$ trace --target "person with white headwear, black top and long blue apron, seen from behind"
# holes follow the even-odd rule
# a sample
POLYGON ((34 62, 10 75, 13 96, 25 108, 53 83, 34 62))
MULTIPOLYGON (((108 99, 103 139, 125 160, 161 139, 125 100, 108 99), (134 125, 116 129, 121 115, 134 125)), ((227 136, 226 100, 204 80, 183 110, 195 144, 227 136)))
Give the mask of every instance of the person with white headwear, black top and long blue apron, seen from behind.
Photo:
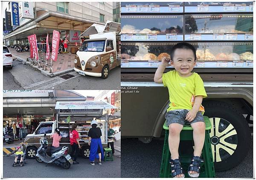
POLYGON ((90 146, 90 164, 95 165, 94 160, 95 158, 99 158, 98 164, 102 164, 101 160, 104 159, 103 155, 103 147, 101 142, 102 132, 99 127, 97 127, 97 121, 91 121, 92 128, 89 129, 88 137, 89 137, 89 146, 90 146))

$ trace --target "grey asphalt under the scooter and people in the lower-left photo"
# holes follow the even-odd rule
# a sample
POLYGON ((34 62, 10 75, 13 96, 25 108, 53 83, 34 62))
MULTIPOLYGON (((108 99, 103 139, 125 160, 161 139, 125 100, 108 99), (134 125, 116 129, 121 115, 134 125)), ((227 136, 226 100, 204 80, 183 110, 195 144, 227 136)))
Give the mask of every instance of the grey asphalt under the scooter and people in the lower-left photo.
POLYGON ((17 177, 120 177, 120 158, 114 156, 113 161, 102 162, 102 165, 90 165, 89 159, 79 157, 79 164, 71 165, 70 169, 61 169, 58 166, 38 163, 36 160, 27 159, 23 167, 12 167, 13 156, 3 157, 3 178, 17 177))

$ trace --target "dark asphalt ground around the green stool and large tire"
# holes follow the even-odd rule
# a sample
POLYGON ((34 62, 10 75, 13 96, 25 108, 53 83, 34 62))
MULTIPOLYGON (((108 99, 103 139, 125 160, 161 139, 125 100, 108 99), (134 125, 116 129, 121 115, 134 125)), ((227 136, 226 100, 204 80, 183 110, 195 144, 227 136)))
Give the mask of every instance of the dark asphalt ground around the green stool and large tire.
MULTIPOLYGON (((122 177, 158 177, 162 156, 163 140, 153 139, 142 143, 138 139, 122 139, 122 177)), ((253 177, 253 143, 244 160, 233 169, 215 172, 216 177, 253 177)))

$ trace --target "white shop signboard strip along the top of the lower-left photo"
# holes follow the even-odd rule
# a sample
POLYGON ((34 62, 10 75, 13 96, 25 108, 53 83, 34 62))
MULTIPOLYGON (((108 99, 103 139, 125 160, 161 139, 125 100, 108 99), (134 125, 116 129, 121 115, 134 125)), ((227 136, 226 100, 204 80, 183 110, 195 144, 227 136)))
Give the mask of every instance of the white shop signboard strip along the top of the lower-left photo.
POLYGON ((3 98, 12 97, 49 97, 53 90, 3 90, 3 98))

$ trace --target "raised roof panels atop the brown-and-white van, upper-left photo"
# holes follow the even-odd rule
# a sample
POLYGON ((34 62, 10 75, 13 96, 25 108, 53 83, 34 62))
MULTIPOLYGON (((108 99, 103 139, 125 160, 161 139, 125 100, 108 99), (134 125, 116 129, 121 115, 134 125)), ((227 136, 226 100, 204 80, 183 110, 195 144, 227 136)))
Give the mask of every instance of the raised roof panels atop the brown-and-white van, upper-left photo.
POLYGON ((121 24, 113 21, 107 21, 106 25, 93 24, 87 30, 85 30, 80 36, 89 36, 91 34, 99 34, 103 32, 121 32, 121 24))

